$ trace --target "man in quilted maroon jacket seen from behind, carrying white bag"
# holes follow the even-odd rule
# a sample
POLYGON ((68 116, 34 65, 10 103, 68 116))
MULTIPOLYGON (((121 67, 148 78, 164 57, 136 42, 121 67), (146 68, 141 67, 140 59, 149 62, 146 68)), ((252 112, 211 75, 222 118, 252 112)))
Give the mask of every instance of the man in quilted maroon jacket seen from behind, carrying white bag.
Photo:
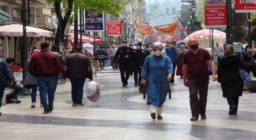
POLYGON ((63 67, 63 81, 71 82, 72 106, 83 106, 83 88, 86 78, 92 78, 92 67, 88 56, 82 53, 80 46, 74 47, 74 53, 66 57, 63 67))

